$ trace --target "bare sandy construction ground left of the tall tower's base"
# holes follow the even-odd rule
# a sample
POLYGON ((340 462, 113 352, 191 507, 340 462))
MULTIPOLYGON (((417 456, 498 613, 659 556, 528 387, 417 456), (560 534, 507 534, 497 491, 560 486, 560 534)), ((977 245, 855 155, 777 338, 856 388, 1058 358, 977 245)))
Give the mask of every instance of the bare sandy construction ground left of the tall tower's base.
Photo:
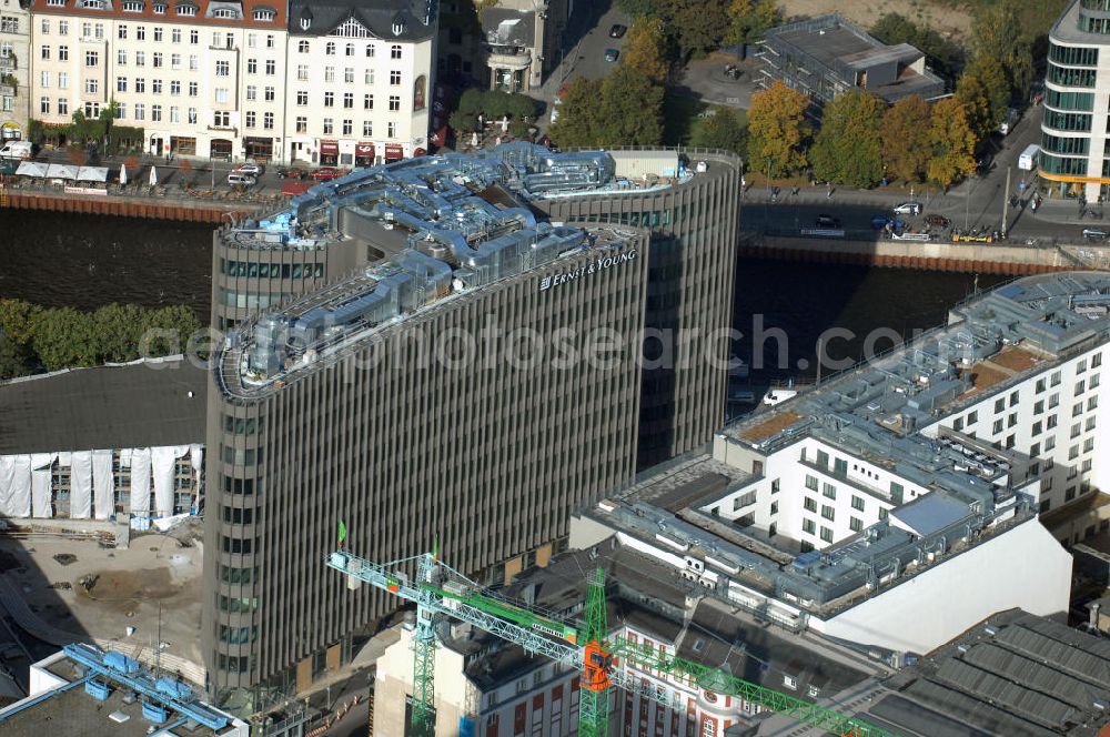
POLYGON ((127 551, 54 534, 0 537, 0 572, 48 624, 145 646, 159 636, 161 602, 168 652, 195 662, 201 659, 201 555, 200 547, 182 547, 169 535, 132 537, 127 551), (75 561, 63 565, 69 556, 75 561), (89 590, 80 584, 87 576, 97 578, 89 590), (130 637, 129 626, 135 628, 130 637))

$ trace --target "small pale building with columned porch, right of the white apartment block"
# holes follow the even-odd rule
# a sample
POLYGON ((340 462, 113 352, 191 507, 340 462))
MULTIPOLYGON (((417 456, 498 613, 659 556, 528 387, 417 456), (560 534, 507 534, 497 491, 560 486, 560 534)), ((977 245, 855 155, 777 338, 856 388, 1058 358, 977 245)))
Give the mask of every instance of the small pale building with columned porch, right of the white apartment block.
POLYGON ((504 0, 483 8, 483 61, 490 89, 502 92, 536 90, 562 61, 567 0, 504 0))

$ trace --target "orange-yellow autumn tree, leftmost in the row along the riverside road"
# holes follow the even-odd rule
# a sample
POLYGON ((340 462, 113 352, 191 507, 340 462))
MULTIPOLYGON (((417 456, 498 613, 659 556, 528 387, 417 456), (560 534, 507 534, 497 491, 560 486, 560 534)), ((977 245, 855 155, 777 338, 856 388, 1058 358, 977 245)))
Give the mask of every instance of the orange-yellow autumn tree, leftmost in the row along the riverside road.
POLYGON ((771 176, 800 171, 806 165, 803 145, 809 135, 805 112, 809 98, 791 90, 781 80, 751 94, 748 110, 748 157, 751 168, 771 176))

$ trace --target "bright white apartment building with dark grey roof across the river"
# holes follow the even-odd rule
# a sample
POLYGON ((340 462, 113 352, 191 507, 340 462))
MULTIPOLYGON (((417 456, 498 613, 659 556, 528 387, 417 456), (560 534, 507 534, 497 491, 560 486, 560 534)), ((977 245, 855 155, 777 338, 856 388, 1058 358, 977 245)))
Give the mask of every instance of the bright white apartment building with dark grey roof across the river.
POLYGON ((284 155, 369 166, 427 152, 437 0, 294 0, 284 155))

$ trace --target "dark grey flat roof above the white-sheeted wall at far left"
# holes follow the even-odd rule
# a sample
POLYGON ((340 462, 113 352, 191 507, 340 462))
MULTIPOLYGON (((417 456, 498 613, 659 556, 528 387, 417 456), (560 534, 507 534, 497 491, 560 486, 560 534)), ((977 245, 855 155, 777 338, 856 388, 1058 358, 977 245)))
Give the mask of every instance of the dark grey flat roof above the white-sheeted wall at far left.
POLYGON ((0 385, 0 454, 203 443, 206 387, 188 361, 9 382, 0 385))

